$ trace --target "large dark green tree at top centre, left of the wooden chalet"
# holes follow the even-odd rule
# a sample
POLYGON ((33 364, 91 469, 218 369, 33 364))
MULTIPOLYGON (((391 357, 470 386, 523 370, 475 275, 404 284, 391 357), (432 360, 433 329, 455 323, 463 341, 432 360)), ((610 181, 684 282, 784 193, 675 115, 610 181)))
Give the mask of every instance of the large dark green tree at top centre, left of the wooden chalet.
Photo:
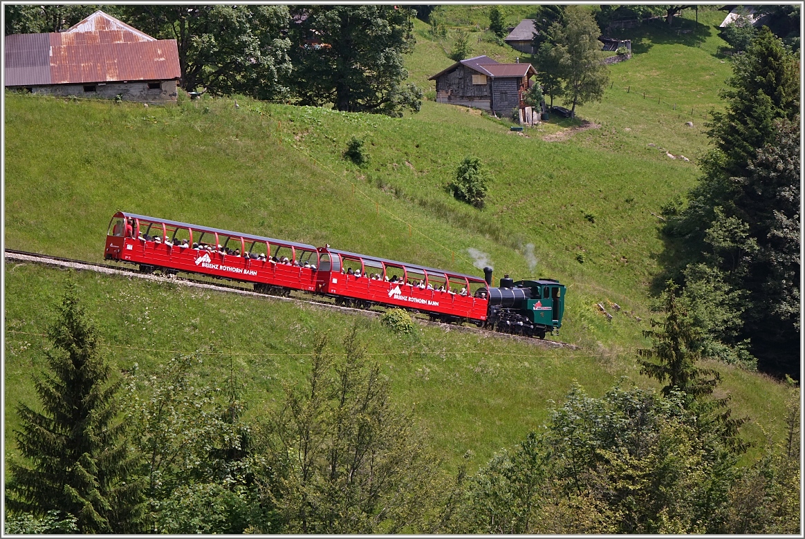
POLYGON ((415 39, 405 6, 304 6, 291 9, 291 84, 302 105, 402 116, 422 92, 406 84, 403 55, 415 39), (316 35, 323 46, 305 43, 316 35))

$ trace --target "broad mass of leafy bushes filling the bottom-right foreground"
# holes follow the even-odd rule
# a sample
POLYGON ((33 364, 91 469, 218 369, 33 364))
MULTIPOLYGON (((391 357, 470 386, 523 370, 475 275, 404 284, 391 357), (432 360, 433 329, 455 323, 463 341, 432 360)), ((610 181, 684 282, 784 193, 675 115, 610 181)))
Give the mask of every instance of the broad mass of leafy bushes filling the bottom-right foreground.
MULTIPOLYGON (((799 449, 751 467, 698 425, 680 393, 574 386, 539 434, 466 480, 457 533, 792 533, 799 449)), ((795 415, 797 408, 793 408, 795 415)), ((797 438, 799 439, 799 438, 797 438)))

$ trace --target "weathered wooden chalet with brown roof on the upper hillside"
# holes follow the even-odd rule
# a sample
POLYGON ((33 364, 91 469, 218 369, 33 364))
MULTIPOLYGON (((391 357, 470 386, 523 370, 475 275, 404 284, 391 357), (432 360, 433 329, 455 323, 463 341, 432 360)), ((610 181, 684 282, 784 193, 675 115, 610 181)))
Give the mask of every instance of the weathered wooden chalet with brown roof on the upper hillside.
POLYGON ((460 60, 428 80, 436 80, 436 102, 464 105, 510 116, 522 109, 522 94, 536 75, 531 64, 501 64, 489 56, 460 60))

